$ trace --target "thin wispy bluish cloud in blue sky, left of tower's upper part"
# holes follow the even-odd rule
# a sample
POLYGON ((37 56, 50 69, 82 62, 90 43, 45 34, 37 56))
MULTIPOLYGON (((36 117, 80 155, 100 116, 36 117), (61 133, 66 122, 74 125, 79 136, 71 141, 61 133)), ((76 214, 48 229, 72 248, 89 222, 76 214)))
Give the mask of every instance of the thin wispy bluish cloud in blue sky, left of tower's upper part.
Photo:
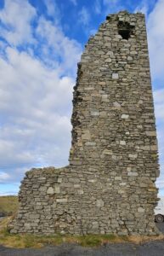
POLYGON ((61 74, 65 72, 75 74, 76 62, 80 59, 82 52, 80 44, 65 37, 59 26, 55 26, 43 17, 38 21, 37 37, 43 41, 42 61, 47 61, 46 64, 59 68, 61 74))

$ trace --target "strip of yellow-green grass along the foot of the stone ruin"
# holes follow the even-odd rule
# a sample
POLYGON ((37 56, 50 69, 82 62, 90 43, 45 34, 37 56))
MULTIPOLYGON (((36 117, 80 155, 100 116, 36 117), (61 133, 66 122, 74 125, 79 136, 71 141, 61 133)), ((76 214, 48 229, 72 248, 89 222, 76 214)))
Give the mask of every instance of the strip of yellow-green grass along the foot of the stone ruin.
POLYGON ((0 244, 5 247, 35 247, 40 248, 46 245, 59 245, 63 242, 76 243, 82 247, 99 247, 107 243, 133 242, 161 240, 164 236, 114 236, 114 235, 87 235, 87 236, 40 236, 31 234, 10 234, 8 232, 8 222, 12 217, 3 218, 0 221, 0 244))

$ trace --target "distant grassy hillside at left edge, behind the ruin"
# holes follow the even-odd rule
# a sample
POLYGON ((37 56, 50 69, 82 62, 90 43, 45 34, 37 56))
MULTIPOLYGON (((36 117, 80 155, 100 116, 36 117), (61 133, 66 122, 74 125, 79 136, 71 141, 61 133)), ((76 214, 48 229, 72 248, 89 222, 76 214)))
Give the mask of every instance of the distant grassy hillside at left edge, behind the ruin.
POLYGON ((0 212, 6 215, 14 213, 18 209, 18 197, 14 195, 0 196, 0 212))

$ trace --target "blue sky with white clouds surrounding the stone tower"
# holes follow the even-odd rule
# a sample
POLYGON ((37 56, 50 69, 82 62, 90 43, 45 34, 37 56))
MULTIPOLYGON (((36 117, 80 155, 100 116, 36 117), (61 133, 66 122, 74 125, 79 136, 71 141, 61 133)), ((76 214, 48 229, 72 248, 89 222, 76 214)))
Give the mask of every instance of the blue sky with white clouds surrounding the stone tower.
POLYGON ((76 63, 122 9, 146 15, 164 195, 164 0, 0 0, 0 195, 31 167, 68 164, 76 63))

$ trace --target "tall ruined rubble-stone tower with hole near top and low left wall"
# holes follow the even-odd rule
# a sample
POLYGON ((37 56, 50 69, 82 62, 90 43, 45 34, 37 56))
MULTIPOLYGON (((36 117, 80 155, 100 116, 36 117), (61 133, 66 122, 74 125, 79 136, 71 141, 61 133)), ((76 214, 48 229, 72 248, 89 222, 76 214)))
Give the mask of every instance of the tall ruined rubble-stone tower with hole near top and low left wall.
POLYGON ((155 235, 156 125, 144 15, 108 15, 78 63, 70 165, 32 169, 12 233, 155 235))

